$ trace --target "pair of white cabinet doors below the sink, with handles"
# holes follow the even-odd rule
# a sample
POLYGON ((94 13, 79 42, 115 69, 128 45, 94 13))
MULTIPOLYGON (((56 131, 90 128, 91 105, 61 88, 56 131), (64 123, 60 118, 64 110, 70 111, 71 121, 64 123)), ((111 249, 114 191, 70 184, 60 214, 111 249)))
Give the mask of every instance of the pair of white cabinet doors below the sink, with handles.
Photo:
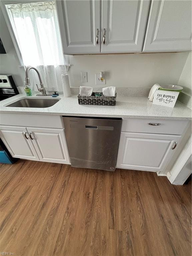
POLYGON ((1 125, 0 137, 13 157, 70 164, 64 129, 1 125))

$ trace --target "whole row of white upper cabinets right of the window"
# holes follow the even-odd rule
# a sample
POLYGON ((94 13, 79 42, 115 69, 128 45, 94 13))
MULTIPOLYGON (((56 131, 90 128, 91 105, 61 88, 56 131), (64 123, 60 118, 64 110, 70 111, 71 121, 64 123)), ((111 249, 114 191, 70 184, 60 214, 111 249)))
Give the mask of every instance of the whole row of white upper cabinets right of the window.
POLYGON ((64 54, 191 50, 190 0, 56 2, 64 54))

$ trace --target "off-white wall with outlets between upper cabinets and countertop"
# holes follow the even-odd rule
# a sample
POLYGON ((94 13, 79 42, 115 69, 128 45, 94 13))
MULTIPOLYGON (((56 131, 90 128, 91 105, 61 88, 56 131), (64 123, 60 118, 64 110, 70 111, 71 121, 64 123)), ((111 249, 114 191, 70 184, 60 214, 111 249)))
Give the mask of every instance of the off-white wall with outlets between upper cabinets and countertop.
POLYGON ((71 86, 94 86, 95 73, 105 72, 106 86, 145 87, 153 84, 177 84, 188 53, 146 53, 70 56, 71 86), (81 82, 87 71, 88 82, 81 82))

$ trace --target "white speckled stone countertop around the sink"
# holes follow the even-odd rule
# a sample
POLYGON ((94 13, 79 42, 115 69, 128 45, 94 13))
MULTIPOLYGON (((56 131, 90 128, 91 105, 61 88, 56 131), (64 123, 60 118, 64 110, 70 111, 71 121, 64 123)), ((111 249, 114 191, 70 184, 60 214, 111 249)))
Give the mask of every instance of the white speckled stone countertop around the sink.
MULTIPOLYGON (((116 106, 79 105, 77 95, 60 99, 49 108, 16 108, 6 107, 19 99, 26 98, 19 94, 0 101, 0 113, 25 113, 63 116, 90 116, 90 117, 121 117, 121 118, 158 118, 192 120, 191 109, 177 101, 174 108, 154 105, 146 96, 117 96, 116 106)), ((52 98, 47 96, 30 96, 30 98, 52 98)))

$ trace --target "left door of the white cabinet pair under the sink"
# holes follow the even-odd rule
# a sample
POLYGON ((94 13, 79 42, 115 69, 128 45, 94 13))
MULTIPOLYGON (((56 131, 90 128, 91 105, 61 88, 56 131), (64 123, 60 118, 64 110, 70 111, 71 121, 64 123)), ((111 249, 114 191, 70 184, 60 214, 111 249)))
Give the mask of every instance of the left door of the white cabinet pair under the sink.
POLYGON ((0 137, 12 157, 39 160, 26 127, 0 125, 0 137))

